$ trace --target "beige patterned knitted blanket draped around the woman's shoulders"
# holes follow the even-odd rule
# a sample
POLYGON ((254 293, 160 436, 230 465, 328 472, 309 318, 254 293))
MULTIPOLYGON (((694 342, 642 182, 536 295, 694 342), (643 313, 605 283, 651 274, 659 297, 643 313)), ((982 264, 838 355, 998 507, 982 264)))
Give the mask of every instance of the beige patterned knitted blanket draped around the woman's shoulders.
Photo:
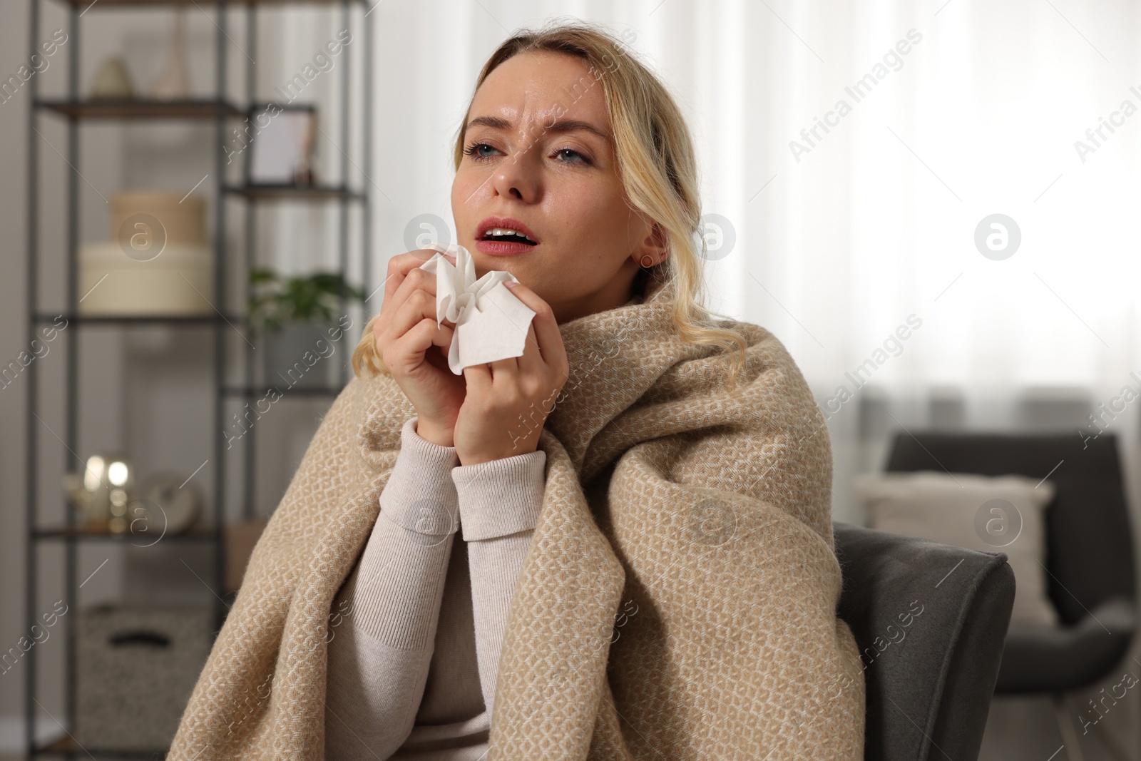
MULTIPOLYGON (((570 377, 539 444, 487 758, 860 760, 823 415, 771 333, 739 323, 747 367, 728 391, 729 358, 680 340, 670 310, 657 288, 560 325, 570 377)), ((168 759, 322 758, 326 639, 345 625, 331 601, 414 414, 388 375, 337 397, 168 759)))

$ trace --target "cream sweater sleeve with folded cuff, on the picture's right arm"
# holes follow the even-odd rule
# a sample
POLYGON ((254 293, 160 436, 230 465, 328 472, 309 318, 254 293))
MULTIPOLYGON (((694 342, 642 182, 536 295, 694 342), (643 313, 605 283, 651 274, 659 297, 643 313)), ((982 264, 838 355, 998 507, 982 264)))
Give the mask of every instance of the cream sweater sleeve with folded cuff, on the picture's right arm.
POLYGON ((476 659, 488 715, 511 598, 543 503, 545 464, 547 453, 536 450, 452 469, 460 531, 468 544, 476 659))

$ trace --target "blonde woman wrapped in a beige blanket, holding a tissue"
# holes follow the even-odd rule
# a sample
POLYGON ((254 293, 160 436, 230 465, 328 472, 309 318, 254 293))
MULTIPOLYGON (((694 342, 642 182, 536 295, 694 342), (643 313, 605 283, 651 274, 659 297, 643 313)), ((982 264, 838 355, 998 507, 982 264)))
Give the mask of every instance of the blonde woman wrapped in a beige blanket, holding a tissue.
POLYGON ((524 353, 451 373, 430 252, 390 260, 170 758, 861 759, 827 429, 698 303, 673 99, 594 26, 518 34, 455 168, 524 353))

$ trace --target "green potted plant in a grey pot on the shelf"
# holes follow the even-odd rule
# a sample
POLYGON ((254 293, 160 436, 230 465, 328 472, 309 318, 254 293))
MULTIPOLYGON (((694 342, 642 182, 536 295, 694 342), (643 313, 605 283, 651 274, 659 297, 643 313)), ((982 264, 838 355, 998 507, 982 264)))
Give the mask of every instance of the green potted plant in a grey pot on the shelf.
POLYGON ((338 340, 341 298, 364 303, 364 292, 341 273, 316 272, 282 277, 264 267, 250 268, 250 325, 258 332, 266 382, 285 388, 319 388, 330 383, 338 340))

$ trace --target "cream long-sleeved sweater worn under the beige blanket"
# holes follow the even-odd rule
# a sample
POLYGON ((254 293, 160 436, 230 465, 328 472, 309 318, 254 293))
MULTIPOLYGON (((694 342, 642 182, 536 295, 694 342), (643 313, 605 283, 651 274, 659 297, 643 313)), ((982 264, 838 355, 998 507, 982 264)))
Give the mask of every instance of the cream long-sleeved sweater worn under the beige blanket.
POLYGON ((329 761, 476 761, 487 752, 500 647, 547 454, 461 465, 455 447, 421 438, 415 424, 400 429, 380 516, 333 600, 329 761))

